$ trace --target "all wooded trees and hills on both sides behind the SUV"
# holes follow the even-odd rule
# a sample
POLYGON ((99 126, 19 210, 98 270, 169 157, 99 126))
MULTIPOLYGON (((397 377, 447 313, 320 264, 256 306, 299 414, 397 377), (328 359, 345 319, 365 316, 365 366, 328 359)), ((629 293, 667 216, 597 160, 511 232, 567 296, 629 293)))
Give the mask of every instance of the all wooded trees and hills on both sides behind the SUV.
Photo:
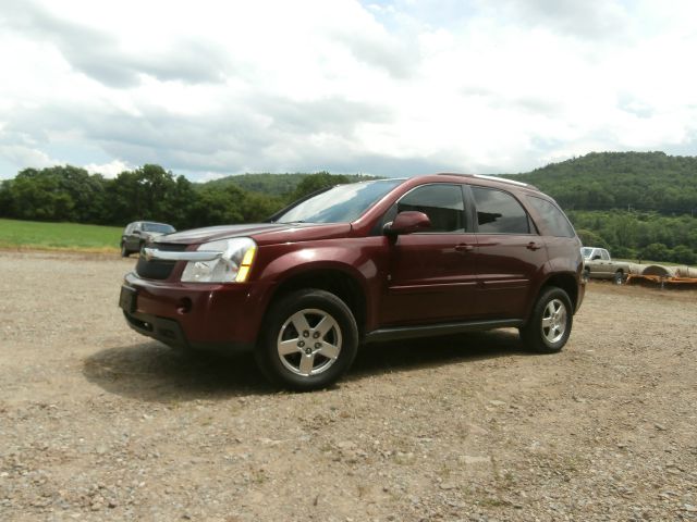
MULTIPOLYGON (((600 152, 505 175, 536 185, 567 212, 584 245, 617 258, 697 264, 697 158, 600 152)), ((266 220, 320 188, 374 177, 247 174, 199 184, 147 164, 115 178, 76 166, 25 169, 0 184, 0 216, 176 228, 266 220)))

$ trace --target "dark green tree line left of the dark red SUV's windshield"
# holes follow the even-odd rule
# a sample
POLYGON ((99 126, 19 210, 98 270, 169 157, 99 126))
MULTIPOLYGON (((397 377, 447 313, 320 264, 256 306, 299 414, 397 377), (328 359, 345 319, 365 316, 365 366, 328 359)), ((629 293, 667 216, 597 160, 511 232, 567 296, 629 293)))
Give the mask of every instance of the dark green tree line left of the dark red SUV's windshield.
POLYGON ((350 181, 326 172, 302 175, 285 194, 272 195, 234 183, 194 184, 154 164, 113 179, 71 165, 25 169, 0 184, 0 217, 117 226, 149 220, 176 228, 252 223, 306 194, 350 181))

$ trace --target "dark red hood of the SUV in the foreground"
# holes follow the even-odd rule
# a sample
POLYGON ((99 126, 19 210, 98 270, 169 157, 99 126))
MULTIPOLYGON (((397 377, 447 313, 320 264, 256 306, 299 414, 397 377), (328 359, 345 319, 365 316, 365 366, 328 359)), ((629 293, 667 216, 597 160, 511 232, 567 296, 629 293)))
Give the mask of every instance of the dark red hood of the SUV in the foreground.
POLYGON ((257 245, 306 241, 345 237, 351 232, 348 223, 255 223, 194 228, 159 236, 156 243, 199 245, 229 237, 250 237, 257 245))

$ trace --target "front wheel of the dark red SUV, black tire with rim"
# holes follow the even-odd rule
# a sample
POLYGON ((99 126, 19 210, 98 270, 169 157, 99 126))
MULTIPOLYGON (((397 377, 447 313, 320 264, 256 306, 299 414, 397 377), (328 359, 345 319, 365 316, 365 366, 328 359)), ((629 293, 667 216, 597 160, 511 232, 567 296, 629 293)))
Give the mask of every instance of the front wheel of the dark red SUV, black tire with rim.
POLYGON ((357 350, 358 327, 351 309, 333 294, 310 288, 271 304, 255 358, 274 385, 308 391, 337 382, 357 350))

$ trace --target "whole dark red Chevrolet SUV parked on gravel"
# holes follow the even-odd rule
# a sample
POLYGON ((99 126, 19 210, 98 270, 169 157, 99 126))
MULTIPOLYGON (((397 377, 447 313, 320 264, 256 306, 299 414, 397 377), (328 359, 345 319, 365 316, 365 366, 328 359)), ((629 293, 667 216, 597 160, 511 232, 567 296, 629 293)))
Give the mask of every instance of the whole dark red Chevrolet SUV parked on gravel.
POLYGON ((584 297, 580 241, 530 185, 436 174, 339 185, 267 223, 160 236, 125 276, 137 332, 254 350, 277 385, 315 389, 368 341, 517 327, 566 344, 584 297))

